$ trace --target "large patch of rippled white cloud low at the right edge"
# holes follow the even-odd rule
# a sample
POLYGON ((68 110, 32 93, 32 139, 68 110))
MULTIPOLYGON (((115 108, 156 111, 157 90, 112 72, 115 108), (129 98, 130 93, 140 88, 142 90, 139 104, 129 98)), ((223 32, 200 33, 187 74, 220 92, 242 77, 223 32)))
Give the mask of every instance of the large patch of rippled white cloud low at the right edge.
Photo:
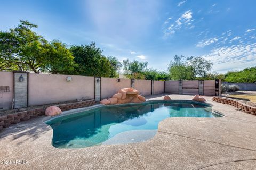
POLYGON ((213 44, 212 50, 202 57, 213 62, 215 71, 224 73, 256 65, 256 41, 253 39, 255 36, 247 33, 242 36, 231 36, 232 34, 232 31, 228 30, 220 36, 196 44, 196 47, 213 44))

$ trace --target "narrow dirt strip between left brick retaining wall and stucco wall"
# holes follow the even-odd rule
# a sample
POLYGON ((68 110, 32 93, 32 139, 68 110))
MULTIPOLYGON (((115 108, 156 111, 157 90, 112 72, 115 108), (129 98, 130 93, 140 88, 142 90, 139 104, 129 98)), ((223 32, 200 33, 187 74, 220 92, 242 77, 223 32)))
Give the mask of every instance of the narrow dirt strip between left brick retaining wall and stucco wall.
POLYGON ((53 103, 53 104, 46 104, 46 105, 39 105, 39 106, 29 106, 26 108, 19 108, 19 109, 9 109, 9 110, 2 110, 0 109, 0 116, 4 116, 4 115, 9 115, 12 113, 17 113, 17 112, 22 112, 22 111, 28 111, 34 108, 39 108, 39 107, 49 107, 49 106, 54 106, 54 105, 61 105, 61 104, 68 104, 68 103, 74 103, 77 101, 86 101, 86 100, 73 100, 73 101, 65 101, 65 102, 61 102, 61 103, 53 103))

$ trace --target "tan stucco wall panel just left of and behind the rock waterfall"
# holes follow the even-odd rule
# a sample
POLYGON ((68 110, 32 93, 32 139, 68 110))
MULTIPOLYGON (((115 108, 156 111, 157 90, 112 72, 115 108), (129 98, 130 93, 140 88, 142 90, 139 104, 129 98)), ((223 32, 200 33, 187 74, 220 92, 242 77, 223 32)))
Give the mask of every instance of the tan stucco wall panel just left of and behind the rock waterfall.
POLYGON ((131 87, 131 79, 101 78, 101 99, 112 97, 118 90, 131 87))

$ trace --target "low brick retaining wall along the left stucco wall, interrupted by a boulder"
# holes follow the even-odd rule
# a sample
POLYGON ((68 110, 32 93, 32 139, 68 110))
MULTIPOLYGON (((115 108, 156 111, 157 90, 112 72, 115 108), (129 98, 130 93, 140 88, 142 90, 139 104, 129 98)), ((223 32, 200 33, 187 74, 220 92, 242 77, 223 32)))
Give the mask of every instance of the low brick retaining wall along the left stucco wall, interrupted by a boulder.
MULTIPOLYGON (((82 107, 87 107, 92 105, 95 105, 94 100, 78 101, 75 103, 68 103, 68 104, 61 104, 61 105, 54 105, 54 106, 59 107, 61 111, 68 111, 71 109, 82 108, 82 107)), ((11 124, 16 124, 21 121, 26 121, 31 118, 42 116, 44 115, 45 109, 46 107, 38 107, 38 108, 31 109, 29 111, 23 111, 23 112, 2 116, 0 117, 0 130, 3 128, 7 128, 11 124)))

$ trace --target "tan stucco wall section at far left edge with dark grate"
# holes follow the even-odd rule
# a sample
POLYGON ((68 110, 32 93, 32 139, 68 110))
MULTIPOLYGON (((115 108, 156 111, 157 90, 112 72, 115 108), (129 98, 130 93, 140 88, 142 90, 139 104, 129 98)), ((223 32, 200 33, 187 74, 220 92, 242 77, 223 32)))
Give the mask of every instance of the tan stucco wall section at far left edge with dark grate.
POLYGON ((0 108, 12 107, 13 99, 13 73, 0 72, 0 86, 9 86, 10 92, 0 92, 0 108))

